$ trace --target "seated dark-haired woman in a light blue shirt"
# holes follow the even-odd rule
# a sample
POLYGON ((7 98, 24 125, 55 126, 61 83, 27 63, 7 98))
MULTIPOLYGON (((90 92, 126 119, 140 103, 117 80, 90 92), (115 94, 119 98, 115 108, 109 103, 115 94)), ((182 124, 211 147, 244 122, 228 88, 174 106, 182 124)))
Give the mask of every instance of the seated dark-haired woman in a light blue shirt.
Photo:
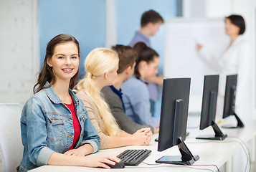
POLYGON ((159 118, 154 118, 151 115, 146 80, 158 72, 159 57, 153 49, 147 47, 143 42, 135 44, 134 49, 138 53, 134 75, 128 81, 123 82, 121 86, 125 113, 136 123, 158 128, 159 118))

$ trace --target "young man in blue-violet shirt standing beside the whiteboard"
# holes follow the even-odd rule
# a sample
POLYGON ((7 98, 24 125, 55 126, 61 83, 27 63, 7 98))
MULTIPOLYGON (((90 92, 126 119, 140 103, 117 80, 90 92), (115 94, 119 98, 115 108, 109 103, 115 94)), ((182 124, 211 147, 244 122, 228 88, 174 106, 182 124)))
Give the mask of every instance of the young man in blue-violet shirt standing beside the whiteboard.
MULTIPOLYGON (((163 17, 158 12, 152 9, 145 11, 141 16, 141 29, 136 31, 129 46, 133 47, 137 42, 144 42, 148 47, 151 47, 149 38, 158 32, 161 24, 163 24, 163 17)), ((157 85, 163 85, 163 77, 161 75, 148 77, 147 82, 149 82, 147 87, 151 100, 151 114, 154 115, 155 102, 159 97, 157 85)))

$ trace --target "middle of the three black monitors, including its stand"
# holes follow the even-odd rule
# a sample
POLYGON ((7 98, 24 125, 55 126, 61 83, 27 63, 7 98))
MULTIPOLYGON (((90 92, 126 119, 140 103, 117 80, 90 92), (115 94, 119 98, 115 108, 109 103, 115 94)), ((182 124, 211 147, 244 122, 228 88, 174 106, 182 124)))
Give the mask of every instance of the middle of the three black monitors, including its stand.
POLYGON ((217 96, 219 87, 219 75, 204 76, 204 91, 200 118, 200 130, 212 126, 215 135, 199 135, 197 139, 224 140, 227 135, 222 133, 215 123, 217 96))

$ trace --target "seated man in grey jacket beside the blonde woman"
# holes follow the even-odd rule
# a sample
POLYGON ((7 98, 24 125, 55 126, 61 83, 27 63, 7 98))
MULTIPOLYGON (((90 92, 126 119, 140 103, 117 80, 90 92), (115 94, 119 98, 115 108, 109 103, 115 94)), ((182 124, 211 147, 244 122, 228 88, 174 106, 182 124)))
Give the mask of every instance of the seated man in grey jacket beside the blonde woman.
POLYGON ((136 133, 136 131, 141 128, 151 128, 152 133, 157 133, 158 128, 154 128, 151 125, 140 125, 133 122, 125 115, 123 93, 120 87, 124 81, 128 80, 133 75, 136 65, 135 59, 137 59, 136 51, 130 46, 120 44, 113 46, 112 49, 118 53, 119 57, 118 76, 113 81, 113 85, 103 87, 101 92, 108 102, 116 122, 122 130, 130 134, 136 133))

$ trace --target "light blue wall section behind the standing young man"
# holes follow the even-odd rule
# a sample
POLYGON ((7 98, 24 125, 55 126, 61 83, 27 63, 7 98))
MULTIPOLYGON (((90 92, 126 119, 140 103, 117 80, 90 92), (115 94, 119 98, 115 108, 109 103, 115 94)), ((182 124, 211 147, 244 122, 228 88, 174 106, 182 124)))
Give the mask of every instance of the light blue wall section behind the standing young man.
MULTIPOLYGON (((140 29, 141 15, 144 11, 153 9, 157 11, 163 19, 176 17, 176 0, 115 0, 115 17, 117 27, 117 43, 129 44, 134 33, 140 29)), ((160 55, 158 70, 163 72, 163 25, 155 36, 151 37, 151 47, 160 55)))

